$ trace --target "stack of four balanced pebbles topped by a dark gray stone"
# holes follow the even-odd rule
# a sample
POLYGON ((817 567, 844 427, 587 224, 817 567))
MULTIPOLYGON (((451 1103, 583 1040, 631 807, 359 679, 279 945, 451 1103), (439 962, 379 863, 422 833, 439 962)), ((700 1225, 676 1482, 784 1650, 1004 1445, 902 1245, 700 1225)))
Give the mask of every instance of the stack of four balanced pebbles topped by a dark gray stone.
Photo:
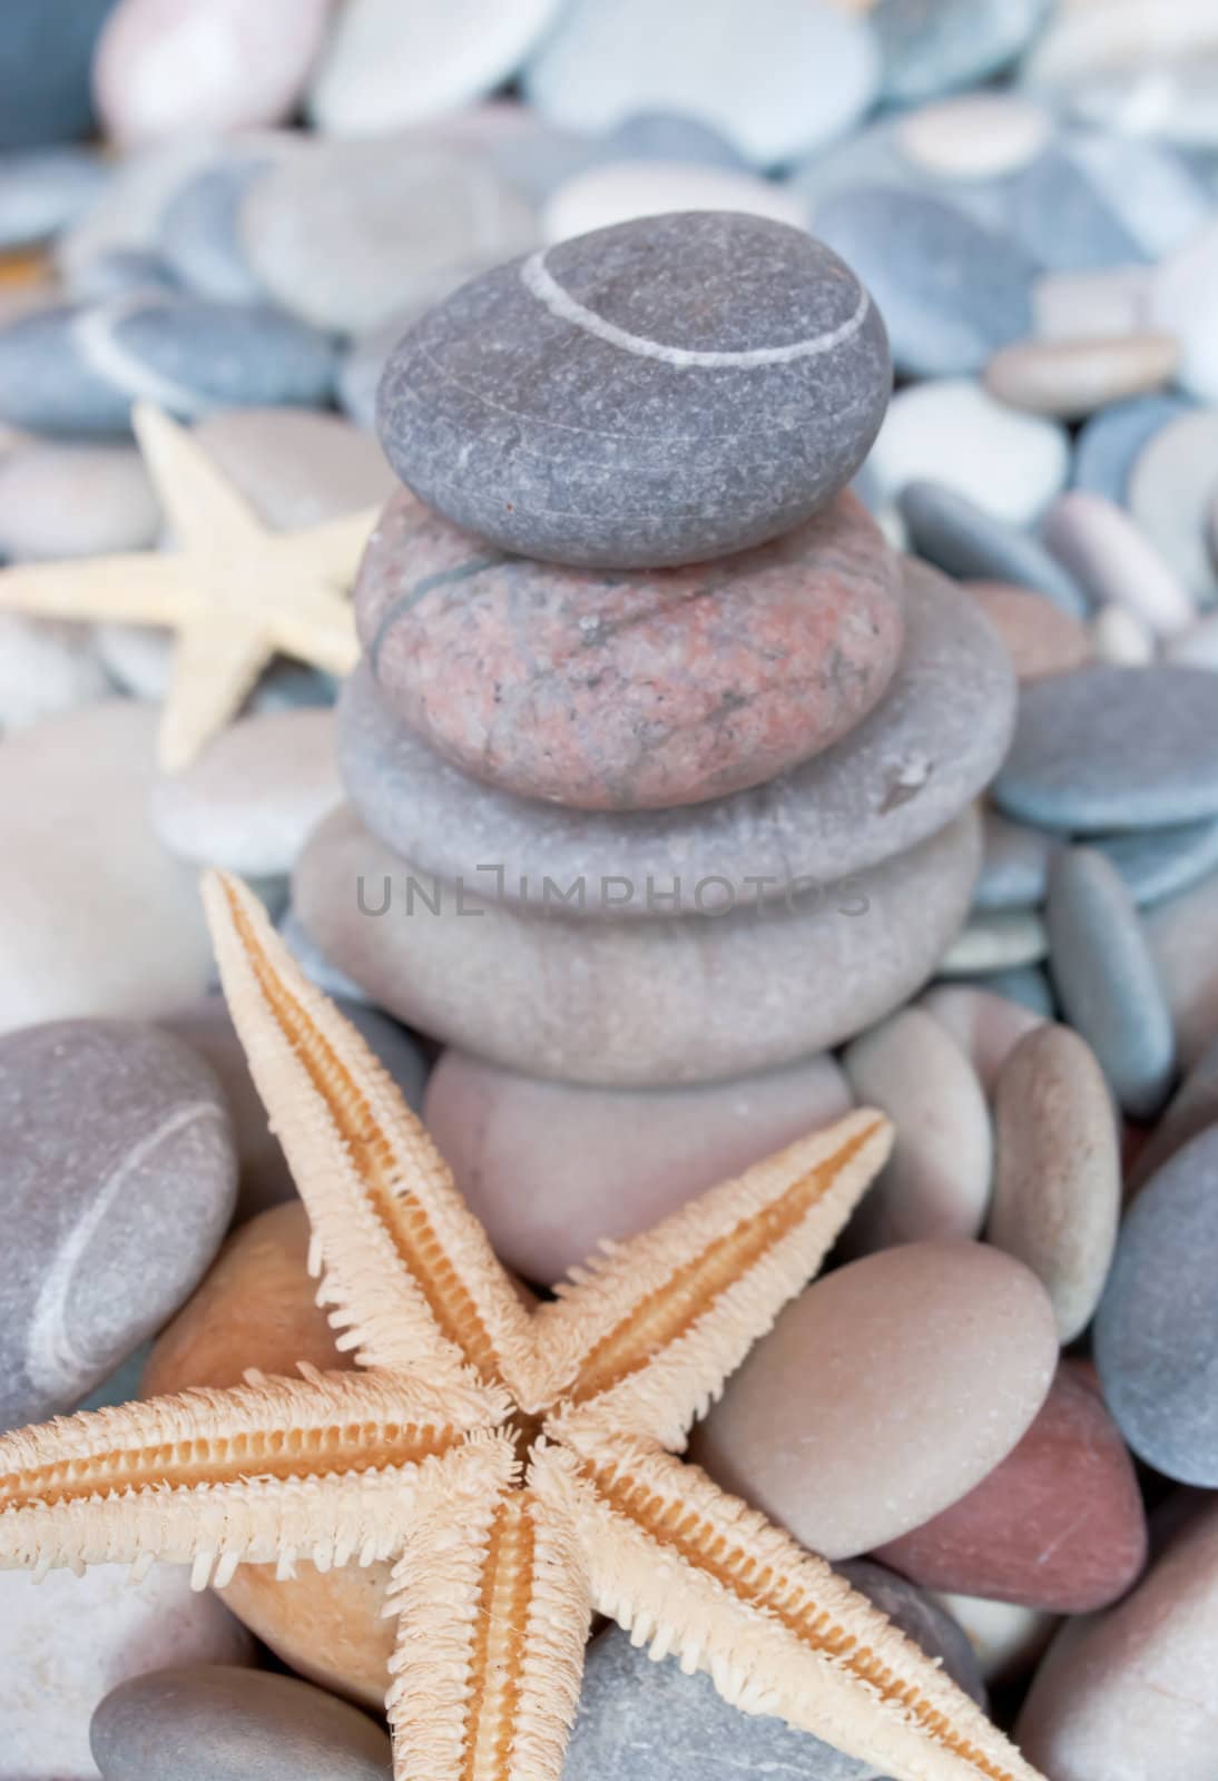
POLYGON ((335 965, 609 1086, 805 1058, 933 972, 1015 687, 846 488, 889 390, 849 267, 727 212, 513 260, 402 338, 351 807, 294 887, 335 965))

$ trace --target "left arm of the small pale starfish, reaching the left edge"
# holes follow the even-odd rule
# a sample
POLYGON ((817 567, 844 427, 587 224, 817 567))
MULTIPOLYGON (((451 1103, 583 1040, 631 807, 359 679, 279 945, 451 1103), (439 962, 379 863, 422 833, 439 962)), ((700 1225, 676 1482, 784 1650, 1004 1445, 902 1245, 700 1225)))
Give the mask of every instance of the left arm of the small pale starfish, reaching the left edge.
POLYGON ((32 618, 178 625, 192 607, 182 566, 155 550, 0 570, 0 609, 32 618))

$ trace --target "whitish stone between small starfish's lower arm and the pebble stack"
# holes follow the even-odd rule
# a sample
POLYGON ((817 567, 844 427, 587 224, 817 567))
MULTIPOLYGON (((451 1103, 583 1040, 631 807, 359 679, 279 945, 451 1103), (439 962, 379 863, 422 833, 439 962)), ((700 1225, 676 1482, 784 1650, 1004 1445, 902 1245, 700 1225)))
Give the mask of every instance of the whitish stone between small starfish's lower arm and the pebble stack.
POLYGON ((310 832, 342 803, 333 730, 324 707, 240 718, 185 771, 153 785, 160 842, 194 866, 290 873, 310 832))

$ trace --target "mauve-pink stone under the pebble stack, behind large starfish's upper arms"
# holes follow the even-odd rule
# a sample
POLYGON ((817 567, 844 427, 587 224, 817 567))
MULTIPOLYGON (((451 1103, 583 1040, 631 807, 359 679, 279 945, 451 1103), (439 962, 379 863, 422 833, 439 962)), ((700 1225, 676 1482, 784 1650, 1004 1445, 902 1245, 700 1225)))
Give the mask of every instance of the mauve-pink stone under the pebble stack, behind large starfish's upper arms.
POLYGON ((495 1252, 559 1281, 600 1238, 659 1224, 694 1193, 853 1106, 826 1056, 710 1088, 573 1088, 445 1051, 424 1124, 495 1252))

